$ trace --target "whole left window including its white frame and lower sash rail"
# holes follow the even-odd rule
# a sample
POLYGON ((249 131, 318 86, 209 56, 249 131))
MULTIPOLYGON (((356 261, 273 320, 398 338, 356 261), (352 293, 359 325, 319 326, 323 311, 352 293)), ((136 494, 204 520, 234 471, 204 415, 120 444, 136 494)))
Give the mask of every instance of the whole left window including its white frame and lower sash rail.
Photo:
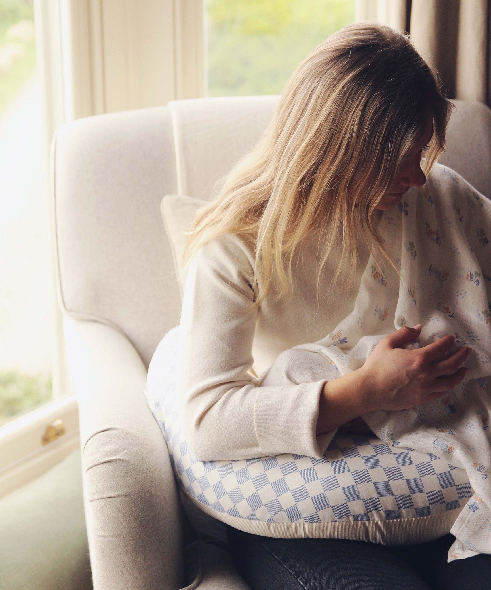
POLYGON ((73 112, 67 5, 0 0, 0 497, 79 445, 48 182, 51 138, 73 112), (54 422, 57 436, 43 441, 54 422))

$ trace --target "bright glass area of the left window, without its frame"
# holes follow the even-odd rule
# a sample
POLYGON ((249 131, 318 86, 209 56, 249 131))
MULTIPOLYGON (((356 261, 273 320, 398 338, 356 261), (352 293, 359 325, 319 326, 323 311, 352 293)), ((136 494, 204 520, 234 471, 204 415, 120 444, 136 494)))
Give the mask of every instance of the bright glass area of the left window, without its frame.
POLYGON ((0 425, 52 399, 41 97, 32 0, 0 0, 0 425))

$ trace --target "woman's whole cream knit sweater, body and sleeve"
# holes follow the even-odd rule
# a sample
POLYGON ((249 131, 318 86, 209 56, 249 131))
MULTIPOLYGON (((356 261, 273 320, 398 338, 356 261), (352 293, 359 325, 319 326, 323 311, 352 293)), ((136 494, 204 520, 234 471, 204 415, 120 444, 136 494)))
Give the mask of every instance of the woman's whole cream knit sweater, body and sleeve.
POLYGON ((329 290, 337 252, 317 297, 317 244, 302 245, 292 298, 269 297, 257 309, 253 245, 227 234, 199 250, 184 289, 179 371, 182 424, 198 458, 322 457, 330 437, 315 428, 325 381, 256 387, 251 368, 260 375, 284 350, 325 337, 352 311, 369 257, 367 247, 358 251, 354 289, 329 290))

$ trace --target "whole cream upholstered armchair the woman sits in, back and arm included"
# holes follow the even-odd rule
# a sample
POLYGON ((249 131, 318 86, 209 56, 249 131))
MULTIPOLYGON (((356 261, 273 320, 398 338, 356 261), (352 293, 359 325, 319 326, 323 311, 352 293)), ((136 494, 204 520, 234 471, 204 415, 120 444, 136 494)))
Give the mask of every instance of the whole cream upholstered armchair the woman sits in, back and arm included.
MULTIPOLYGON (((53 140, 58 301, 80 408, 96 590, 248 588, 220 523, 184 518, 143 390, 151 356, 179 323, 181 306, 160 201, 209 198, 258 140, 276 100, 175 101, 78 120, 53 140)), ((491 111, 456 105, 442 163, 489 197, 491 111)))

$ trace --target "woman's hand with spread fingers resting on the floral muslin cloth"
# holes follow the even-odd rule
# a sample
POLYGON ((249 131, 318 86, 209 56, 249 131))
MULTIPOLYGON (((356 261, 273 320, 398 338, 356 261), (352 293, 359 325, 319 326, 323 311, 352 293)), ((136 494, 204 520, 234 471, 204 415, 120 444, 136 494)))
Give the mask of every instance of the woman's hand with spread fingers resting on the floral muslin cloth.
POLYGON ((453 336, 444 336, 423 348, 400 348, 421 333, 421 324, 385 336, 360 369, 360 391, 368 411, 406 409, 427 404, 458 385, 467 369, 461 365, 470 348, 449 356, 453 336))

